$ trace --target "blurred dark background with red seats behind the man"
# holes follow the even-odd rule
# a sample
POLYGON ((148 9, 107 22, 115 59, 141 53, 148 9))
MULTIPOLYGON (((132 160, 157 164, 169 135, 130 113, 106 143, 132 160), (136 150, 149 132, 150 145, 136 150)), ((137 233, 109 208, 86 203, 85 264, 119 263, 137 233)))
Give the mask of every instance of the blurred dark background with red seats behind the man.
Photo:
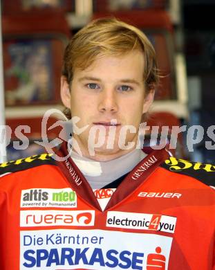
MULTIPOLYGON (((0 125, 10 128, 7 140, 1 130, 0 143, 7 145, 7 159, 44 152, 34 141, 41 141, 45 111, 63 109, 59 78, 68 40, 92 19, 114 16, 149 37, 162 74, 147 121, 160 128, 157 133, 150 129, 144 144, 153 138, 155 144, 162 142, 162 126, 169 126, 165 143, 178 138, 176 150, 170 149, 177 157, 214 163, 214 14, 214 0, 2 0, 1 107, 5 109, 1 109, 0 125), (18 125, 30 129, 17 129, 18 125), (183 132, 177 136, 174 126, 183 132)), ((48 118, 50 141, 61 137, 61 128, 51 127, 61 118, 57 114, 48 118)))

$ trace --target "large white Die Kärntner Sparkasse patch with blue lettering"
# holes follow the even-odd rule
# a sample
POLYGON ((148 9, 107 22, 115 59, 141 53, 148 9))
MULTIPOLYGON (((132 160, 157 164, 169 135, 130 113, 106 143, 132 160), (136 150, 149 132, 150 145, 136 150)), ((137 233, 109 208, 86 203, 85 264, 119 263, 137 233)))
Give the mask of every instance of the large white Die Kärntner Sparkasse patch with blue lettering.
POLYGON ((172 237, 104 230, 20 233, 20 269, 167 270, 172 237))

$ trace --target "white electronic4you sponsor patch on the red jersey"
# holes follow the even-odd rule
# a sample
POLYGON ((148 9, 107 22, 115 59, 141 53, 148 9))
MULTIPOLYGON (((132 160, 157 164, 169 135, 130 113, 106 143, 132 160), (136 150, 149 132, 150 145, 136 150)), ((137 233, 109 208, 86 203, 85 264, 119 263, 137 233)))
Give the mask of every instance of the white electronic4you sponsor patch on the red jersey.
POLYGON ((107 213, 106 226, 174 233, 176 220, 176 217, 169 217, 167 215, 109 211, 107 213))

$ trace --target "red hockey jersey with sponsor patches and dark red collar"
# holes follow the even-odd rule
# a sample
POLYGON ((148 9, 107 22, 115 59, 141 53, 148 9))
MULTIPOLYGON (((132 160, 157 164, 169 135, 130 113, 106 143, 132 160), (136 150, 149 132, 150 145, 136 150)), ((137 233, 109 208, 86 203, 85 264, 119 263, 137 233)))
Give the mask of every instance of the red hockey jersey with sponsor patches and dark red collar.
POLYGON ((214 165, 153 150, 118 188, 95 192, 71 158, 0 172, 2 270, 215 269, 214 165))

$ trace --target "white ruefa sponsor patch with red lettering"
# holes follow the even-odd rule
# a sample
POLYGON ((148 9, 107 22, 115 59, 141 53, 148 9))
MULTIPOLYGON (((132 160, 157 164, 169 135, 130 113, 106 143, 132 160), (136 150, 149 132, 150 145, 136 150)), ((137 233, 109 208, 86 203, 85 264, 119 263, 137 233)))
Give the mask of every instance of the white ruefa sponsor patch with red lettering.
POLYGON ((93 226, 94 210, 21 210, 20 226, 93 226))

